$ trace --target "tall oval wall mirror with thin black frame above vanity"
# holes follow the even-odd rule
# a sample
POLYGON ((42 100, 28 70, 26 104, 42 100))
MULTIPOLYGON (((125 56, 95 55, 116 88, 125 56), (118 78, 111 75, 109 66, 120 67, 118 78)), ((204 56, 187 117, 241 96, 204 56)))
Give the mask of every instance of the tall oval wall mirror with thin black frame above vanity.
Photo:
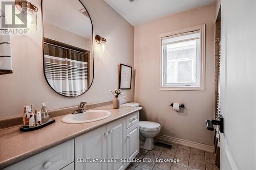
POLYGON ((76 97, 94 77, 93 26, 78 0, 42 0, 44 74, 57 93, 76 97))

